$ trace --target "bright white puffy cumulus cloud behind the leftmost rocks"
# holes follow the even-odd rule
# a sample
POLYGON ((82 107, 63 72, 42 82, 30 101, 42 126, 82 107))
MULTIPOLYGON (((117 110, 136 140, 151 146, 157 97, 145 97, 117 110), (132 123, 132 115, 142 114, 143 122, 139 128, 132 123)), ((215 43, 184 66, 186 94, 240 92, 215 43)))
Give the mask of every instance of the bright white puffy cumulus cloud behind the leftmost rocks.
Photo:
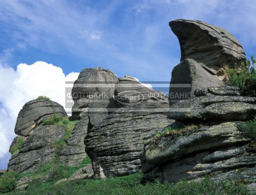
POLYGON ((44 95, 65 107, 65 81, 75 81, 78 75, 71 72, 65 76, 60 67, 41 61, 19 64, 16 70, 0 64, 0 161, 6 161, 16 136, 14 127, 22 106, 44 95))

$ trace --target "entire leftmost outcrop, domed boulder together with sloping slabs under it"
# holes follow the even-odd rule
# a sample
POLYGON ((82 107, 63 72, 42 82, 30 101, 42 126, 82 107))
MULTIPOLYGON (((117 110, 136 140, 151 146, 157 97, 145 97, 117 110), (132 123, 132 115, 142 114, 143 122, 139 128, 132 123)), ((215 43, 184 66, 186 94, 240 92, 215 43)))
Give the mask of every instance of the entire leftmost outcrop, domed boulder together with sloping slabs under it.
MULTIPOLYGON (((8 170, 17 172, 33 172, 40 170, 44 165, 50 163, 58 156, 62 164, 67 166, 79 166, 87 156, 85 153, 84 137, 87 133, 88 116, 82 116, 74 129, 68 129, 67 114, 64 108, 56 102, 48 100, 32 100, 26 103, 21 109, 16 129, 21 129, 19 124, 29 126, 24 132, 29 132, 27 137, 18 135, 12 142, 9 152, 12 158, 8 164, 8 170), (41 125, 41 123, 52 116, 66 118, 65 123, 52 125, 41 125), (36 126, 36 127, 35 127, 36 126), (34 129, 32 129, 34 127, 34 129), (57 146, 56 143, 72 131, 70 138, 64 146, 57 146), (33 133, 32 133, 33 132, 33 133)), ((72 127, 71 127, 72 128, 72 127)))

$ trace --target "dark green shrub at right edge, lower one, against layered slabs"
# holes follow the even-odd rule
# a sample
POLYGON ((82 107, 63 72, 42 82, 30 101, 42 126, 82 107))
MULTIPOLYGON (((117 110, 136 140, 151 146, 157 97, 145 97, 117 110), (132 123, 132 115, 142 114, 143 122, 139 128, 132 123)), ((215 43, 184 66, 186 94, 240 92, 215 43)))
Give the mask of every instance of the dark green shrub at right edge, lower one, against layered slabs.
POLYGON ((245 137, 250 138, 252 142, 256 141, 256 116, 253 120, 239 123, 238 128, 245 137))

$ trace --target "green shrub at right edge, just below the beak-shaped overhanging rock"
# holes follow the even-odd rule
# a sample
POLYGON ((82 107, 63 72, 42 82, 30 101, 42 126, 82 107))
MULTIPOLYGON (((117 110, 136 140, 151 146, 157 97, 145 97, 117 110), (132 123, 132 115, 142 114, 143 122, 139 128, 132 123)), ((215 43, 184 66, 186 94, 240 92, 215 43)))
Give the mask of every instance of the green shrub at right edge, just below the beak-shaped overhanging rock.
POLYGON ((256 97, 256 60, 253 55, 247 63, 241 63, 240 69, 228 70, 228 84, 238 86, 241 95, 256 97))

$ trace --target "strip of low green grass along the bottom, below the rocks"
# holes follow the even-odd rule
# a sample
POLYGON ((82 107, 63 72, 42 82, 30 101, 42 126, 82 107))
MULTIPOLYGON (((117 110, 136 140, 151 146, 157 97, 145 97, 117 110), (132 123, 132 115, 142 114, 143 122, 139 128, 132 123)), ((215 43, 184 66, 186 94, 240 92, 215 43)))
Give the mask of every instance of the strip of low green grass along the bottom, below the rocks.
MULTIPOLYGON (((176 185, 165 182, 142 183, 142 174, 136 173, 119 178, 103 180, 77 180, 53 186, 54 182, 42 183, 34 180, 29 183, 24 194, 28 195, 247 195, 244 185, 235 185, 230 180, 211 181, 204 178, 200 183, 181 181, 176 185)), ((18 193, 18 192, 16 192, 18 193)), ((11 194, 16 194, 15 192, 11 194)))

